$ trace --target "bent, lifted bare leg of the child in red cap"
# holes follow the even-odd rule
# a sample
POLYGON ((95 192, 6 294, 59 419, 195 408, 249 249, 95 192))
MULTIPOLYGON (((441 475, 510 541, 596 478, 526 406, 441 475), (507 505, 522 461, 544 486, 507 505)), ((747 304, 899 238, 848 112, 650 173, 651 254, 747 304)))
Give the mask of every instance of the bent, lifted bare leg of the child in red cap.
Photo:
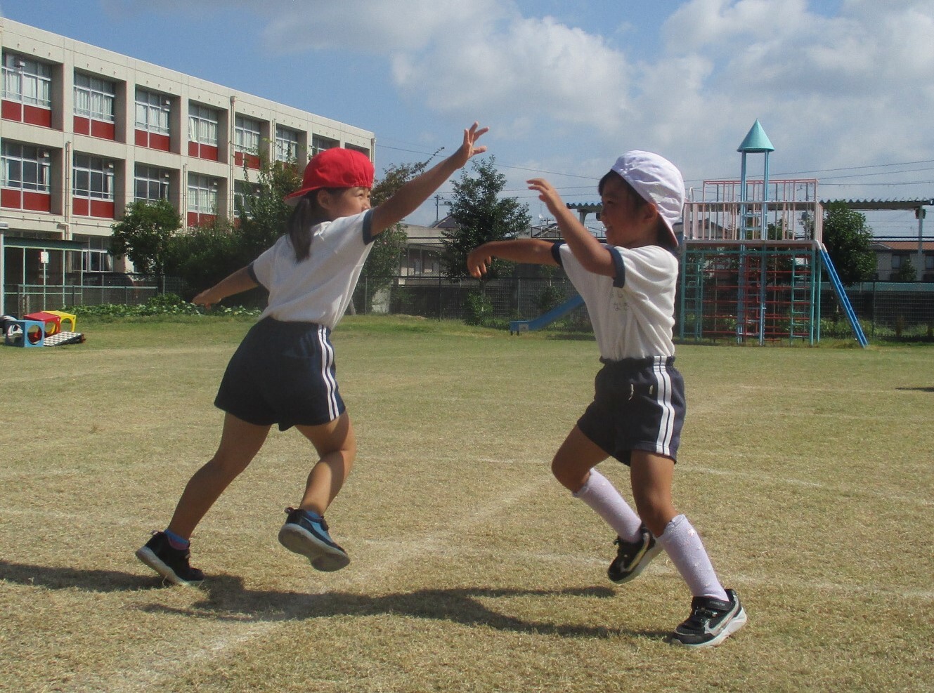
POLYGON ((308 475, 302 503, 303 510, 324 515, 334 497, 350 474, 357 456, 357 439, 354 437, 350 415, 345 411, 330 423, 319 426, 295 426, 311 441, 320 459, 308 475))

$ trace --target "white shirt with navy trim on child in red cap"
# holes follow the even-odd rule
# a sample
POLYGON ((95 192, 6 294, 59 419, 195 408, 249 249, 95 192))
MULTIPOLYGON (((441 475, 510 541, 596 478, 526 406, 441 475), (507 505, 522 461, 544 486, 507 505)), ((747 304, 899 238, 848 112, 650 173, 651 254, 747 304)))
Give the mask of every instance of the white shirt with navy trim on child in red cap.
POLYGON ((311 255, 296 262, 289 234, 249 265, 250 276, 269 291, 260 318, 334 327, 347 311, 363 263, 373 248, 371 211, 318 224, 311 255))

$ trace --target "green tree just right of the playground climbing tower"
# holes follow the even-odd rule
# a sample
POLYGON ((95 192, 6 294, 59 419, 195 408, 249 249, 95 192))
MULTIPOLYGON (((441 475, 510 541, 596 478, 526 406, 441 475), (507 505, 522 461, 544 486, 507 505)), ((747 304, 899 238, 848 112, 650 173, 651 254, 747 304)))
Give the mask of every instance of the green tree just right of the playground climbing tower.
POLYGON ((846 202, 829 202, 824 208, 824 245, 843 284, 857 284, 872 278, 876 256, 872 229, 866 215, 850 209, 846 202))

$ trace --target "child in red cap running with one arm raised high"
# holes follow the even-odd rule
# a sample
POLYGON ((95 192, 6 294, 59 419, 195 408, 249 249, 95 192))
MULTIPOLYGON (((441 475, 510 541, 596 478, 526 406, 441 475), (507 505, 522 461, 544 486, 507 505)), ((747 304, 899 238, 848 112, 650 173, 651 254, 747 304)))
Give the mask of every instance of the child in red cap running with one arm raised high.
POLYGON ((231 358, 215 405, 223 432, 214 457, 185 487, 163 532, 136 556, 164 579, 198 585, 189 564, 191 533, 220 494, 260 451, 274 423, 295 426, 318 453, 301 502, 288 508, 279 541, 322 571, 350 561, 329 534, 324 511, 341 490, 357 452, 353 426, 337 389, 331 330, 347 310, 376 234, 401 221, 462 167, 487 150, 476 140, 488 128, 464 131, 457 152, 370 208, 374 168, 360 152, 333 148, 313 157, 302 187, 286 198, 294 207, 287 232, 247 267, 192 302, 210 307, 262 285, 268 305, 231 358))

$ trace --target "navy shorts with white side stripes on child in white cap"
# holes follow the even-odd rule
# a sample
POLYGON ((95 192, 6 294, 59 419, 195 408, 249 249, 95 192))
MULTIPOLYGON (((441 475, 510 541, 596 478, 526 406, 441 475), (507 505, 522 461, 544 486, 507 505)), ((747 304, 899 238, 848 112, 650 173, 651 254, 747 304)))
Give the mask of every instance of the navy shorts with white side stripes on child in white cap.
POLYGON ((632 450, 677 461, 686 405, 685 381, 674 356, 601 361, 593 402, 577 427, 623 464, 630 464, 632 450))

